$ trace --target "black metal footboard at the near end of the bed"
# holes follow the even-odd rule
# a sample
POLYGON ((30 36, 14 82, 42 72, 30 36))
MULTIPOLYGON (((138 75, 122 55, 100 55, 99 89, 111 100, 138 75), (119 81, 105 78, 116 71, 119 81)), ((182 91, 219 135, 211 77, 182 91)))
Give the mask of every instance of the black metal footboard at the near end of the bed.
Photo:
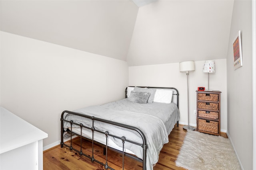
POLYGON ((133 143, 135 145, 139 145, 139 146, 142 147, 142 149, 143 149, 143 157, 140 160, 142 161, 143 170, 146 170, 146 152, 147 152, 147 148, 148 147, 147 147, 147 143, 146 143, 146 137, 145 137, 145 135, 142 133, 142 131, 140 129, 138 129, 136 127, 129 126, 129 125, 124 125, 122 123, 108 121, 108 120, 105 120, 105 119, 100 119, 100 118, 97 118, 97 117, 94 117, 94 116, 83 115, 83 114, 72 112, 72 111, 63 111, 62 114, 61 114, 60 121, 61 121, 61 142, 60 142, 60 146, 61 147, 63 147, 63 146, 69 147, 70 150, 74 150, 74 151, 78 152, 80 155, 84 155, 87 158, 90 158, 92 162, 94 162, 94 161, 98 162, 99 164, 102 164, 106 169, 109 168, 109 169, 113 170, 113 168, 108 166, 108 140, 107 139, 108 139, 109 136, 111 136, 111 137, 114 137, 116 139, 122 140, 122 143, 123 143, 123 147, 122 148, 123 148, 123 150, 121 152, 122 152, 122 159, 123 159, 122 160, 122 167, 123 167, 123 169, 124 169, 124 155, 126 154, 124 152, 124 143, 125 142, 129 142, 129 143, 133 143), (69 114, 78 115, 78 116, 81 116, 81 117, 86 117, 88 119, 91 119, 92 120, 92 127, 86 127, 82 123, 80 123, 80 124, 74 123, 72 120, 71 121, 65 120, 64 119, 64 113, 69 113, 69 114), (70 125, 71 125, 71 128, 70 128, 70 133, 71 133, 70 145, 66 145, 64 143, 64 139, 63 139, 64 138, 64 121, 70 123, 70 125), (122 127, 122 128, 134 130, 134 131, 136 131, 136 132, 138 132, 140 134, 143 143, 136 143, 134 141, 130 141, 130 140, 126 139, 125 136, 118 137, 118 136, 112 135, 108 131, 100 131, 99 129, 96 129, 94 127, 94 121, 100 121, 100 122, 108 123, 108 124, 111 124, 111 125, 116 125, 116 126, 119 126, 119 127, 122 127), (72 132, 72 125, 77 125, 77 126, 80 127, 80 129, 81 129, 80 134, 72 132), (92 154, 91 154, 91 156, 87 155, 87 154, 84 154, 83 151, 82 151, 82 138, 83 138, 82 137, 82 129, 83 128, 90 129, 92 131, 92 140, 91 140, 92 141, 92 154), (94 132, 95 131, 106 135, 106 144, 102 144, 102 145, 105 145, 105 147, 106 147, 106 163, 102 163, 102 162, 100 162, 100 161, 98 161, 98 160, 96 160, 94 158, 94 143, 96 142, 96 141, 94 141, 94 132), (72 147, 72 135, 77 135, 77 136, 80 137, 80 150, 76 150, 76 149, 74 149, 72 147))

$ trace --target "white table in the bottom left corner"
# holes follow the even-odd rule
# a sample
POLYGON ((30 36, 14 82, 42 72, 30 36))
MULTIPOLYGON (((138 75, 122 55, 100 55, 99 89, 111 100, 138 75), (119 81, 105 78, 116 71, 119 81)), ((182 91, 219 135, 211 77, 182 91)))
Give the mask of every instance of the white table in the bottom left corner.
POLYGON ((0 109, 0 169, 43 170, 43 139, 48 134, 0 109))

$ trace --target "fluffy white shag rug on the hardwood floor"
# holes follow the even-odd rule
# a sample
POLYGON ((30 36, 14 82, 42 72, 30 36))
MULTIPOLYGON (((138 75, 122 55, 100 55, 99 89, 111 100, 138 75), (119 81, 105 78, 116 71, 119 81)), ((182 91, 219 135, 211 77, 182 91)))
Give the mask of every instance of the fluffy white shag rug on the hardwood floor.
POLYGON ((187 131, 176 166, 188 170, 241 170, 229 139, 187 131))

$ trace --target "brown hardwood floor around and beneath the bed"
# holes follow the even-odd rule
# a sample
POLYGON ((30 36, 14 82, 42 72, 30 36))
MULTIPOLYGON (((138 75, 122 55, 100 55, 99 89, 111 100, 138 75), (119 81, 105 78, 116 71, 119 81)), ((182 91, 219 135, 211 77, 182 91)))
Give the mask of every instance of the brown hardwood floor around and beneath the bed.
MULTIPOLYGON (((184 168, 175 165, 179 150, 183 144, 186 131, 183 130, 182 125, 174 127, 169 135, 169 143, 162 148, 159 160, 154 170, 185 170, 184 168)), ((224 133, 221 136, 226 137, 224 133)), ((80 150, 80 138, 72 141, 72 147, 80 150)), ((82 150, 85 154, 91 154, 91 143, 83 140, 82 150)), ((44 151, 44 170, 105 170, 105 168, 96 163, 91 162, 86 156, 80 156, 68 147, 60 148, 56 146, 52 149, 44 151)), ((101 162, 106 162, 106 157, 103 155, 103 149, 100 146, 94 145, 94 158, 101 162)), ((124 169, 126 170, 141 170, 142 163, 132 158, 124 157, 124 169)), ((108 166, 122 170, 122 155, 112 150, 108 150, 108 166)))

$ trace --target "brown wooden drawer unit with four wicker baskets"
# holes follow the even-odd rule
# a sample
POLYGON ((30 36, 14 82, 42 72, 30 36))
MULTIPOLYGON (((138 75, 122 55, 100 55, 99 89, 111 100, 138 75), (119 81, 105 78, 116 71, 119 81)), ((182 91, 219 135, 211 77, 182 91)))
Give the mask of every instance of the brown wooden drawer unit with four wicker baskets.
POLYGON ((220 135, 220 91, 196 91, 197 130, 220 135))

